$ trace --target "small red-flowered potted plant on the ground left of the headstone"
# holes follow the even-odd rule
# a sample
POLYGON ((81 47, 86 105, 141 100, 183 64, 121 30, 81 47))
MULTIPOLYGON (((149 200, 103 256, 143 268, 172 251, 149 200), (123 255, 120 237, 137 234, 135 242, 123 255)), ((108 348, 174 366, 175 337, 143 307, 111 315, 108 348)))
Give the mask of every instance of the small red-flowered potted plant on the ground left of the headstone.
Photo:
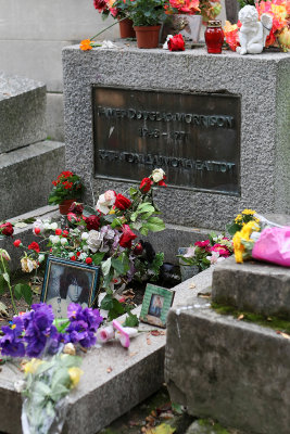
POLYGON ((49 194, 49 205, 59 205, 60 213, 66 215, 73 202, 81 197, 84 186, 80 178, 72 171, 62 171, 52 181, 53 188, 49 194))

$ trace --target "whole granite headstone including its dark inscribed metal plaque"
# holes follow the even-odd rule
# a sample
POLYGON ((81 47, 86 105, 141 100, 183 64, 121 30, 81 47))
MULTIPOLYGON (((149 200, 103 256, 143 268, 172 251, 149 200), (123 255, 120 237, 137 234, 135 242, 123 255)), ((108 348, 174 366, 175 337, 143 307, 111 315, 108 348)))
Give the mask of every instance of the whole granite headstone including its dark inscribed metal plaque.
POLYGON ((223 230, 245 207, 290 210, 289 55, 117 44, 63 51, 66 165, 87 200, 162 167, 167 224, 223 230))

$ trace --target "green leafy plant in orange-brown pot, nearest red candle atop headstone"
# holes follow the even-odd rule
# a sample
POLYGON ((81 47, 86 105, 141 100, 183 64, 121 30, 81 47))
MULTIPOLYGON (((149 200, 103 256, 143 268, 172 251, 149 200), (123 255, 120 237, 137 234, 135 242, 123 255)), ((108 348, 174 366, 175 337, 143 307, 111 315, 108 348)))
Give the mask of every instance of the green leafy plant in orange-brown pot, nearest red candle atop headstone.
POLYGON ((166 18, 169 0, 125 0, 137 36, 138 48, 156 48, 161 24, 166 18))

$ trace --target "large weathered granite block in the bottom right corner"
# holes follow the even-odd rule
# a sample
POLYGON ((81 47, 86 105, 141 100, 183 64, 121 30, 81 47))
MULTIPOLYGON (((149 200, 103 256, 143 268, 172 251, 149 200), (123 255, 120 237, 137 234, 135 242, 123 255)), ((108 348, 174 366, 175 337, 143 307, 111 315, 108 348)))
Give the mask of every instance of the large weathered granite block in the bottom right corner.
POLYGON ((198 299, 200 307, 168 315, 165 381, 172 400, 224 426, 289 434, 289 340, 198 299))

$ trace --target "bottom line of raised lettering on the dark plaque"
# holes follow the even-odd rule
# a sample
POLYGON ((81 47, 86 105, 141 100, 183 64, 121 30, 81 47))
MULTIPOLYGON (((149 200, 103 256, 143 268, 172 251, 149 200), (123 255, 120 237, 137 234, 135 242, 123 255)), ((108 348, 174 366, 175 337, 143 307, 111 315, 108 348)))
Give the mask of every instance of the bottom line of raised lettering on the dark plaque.
POLYGON ((152 166, 171 166, 171 167, 182 167, 186 169, 193 170, 206 170, 206 171, 220 171, 220 173, 232 173, 235 169, 235 163, 226 162, 214 162, 214 161, 201 161, 201 159, 189 159, 175 156, 165 155, 153 155, 153 154, 140 154, 135 152, 119 152, 119 151, 106 151, 99 150, 100 159, 109 159, 110 162, 119 161, 131 164, 143 164, 152 166))

